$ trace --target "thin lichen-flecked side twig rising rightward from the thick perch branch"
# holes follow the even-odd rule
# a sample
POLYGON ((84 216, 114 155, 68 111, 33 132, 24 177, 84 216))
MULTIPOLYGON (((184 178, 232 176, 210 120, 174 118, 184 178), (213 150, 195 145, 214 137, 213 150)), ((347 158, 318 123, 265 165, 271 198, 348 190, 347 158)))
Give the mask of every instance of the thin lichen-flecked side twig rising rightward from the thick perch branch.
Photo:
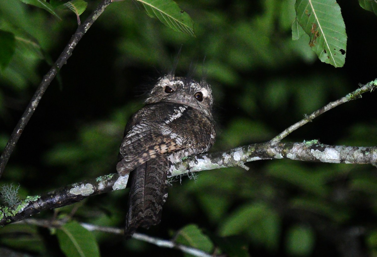
POLYGON ((329 104, 326 104, 321 109, 316 110, 315 112, 313 112, 309 116, 305 116, 305 118, 303 118, 299 122, 291 125, 286 130, 284 130, 282 133, 280 133, 279 135, 277 135, 276 137, 274 137, 273 139, 271 139, 271 141, 270 141, 271 144, 277 144, 277 143, 279 143, 283 138, 285 138, 286 136, 288 136, 294 130, 296 130, 299 127, 302 127, 303 125, 305 125, 308 122, 312 121, 314 118, 317 118, 322 113, 327 112, 328 110, 331 110, 334 107, 337 107, 340 104, 343 104, 343 103, 348 102, 350 100, 361 98, 362 93, 365 93, 365 92, 368 92, 368 91, 372 91, 373 89, 375 89, 376 86, 377 86, 377 80, 371 81, 368 84, 366 84, 366 85, 364 85, 362 87, 359 87, 354 92, 349 93, 348 95, 343 96, 342 98, 340 98, 340 99, 338 99, 338 100, 336 100, 334 102, 330 102, 329 104))

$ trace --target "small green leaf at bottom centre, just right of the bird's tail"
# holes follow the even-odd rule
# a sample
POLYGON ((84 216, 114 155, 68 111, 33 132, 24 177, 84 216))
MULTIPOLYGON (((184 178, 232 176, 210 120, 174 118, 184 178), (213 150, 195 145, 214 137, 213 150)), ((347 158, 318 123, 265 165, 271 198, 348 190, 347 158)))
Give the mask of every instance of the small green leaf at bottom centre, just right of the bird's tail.
POLYGON ((181 228, 177 233, 176 242, 208 253, 213 251, 212 241, 202 233, 196 224, 189 224, 181 228))

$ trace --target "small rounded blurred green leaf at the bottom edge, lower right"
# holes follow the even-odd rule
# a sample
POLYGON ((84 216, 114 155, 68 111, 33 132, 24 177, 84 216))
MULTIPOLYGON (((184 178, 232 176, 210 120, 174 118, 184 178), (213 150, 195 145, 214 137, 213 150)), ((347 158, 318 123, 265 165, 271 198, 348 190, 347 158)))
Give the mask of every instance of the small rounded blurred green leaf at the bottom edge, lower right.
POLYGON ((292 226, 287 231, 285 247, 291 256, 310 256, 313 252, 315 235, 307 226, 292 226))

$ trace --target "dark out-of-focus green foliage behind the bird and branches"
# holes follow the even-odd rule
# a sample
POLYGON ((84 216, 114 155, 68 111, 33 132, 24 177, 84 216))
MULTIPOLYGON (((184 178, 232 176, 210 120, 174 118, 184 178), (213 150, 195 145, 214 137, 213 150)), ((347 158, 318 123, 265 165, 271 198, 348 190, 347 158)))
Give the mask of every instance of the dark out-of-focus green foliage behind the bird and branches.
MULTIPOLYGON (((138 96, 172 68, 180 48, 176 73, 185 76, 192 66, 200 80, 204 70, 213 87, 218 141, 212 151, 268 141, 305 113, 377 77, 377 17, 372 12, 357 1, 337 1, 348 44, 345 66, 334 68, 318 60, 309 37, 291 40, 294 2, 177 1, 195 21, 196 37, 172 31, 132 1, 112 3, 84 35, 60 80, 46 91, 0 184, 20 184, 25 197, 114 173, 127 118, 142 106, 138 96)), ((89 2, 82 20, 96 4, 89 2)), ((52 60, 77 26, 74 14, 61 15, 58 20, 17 0, 0 2, 0 28, 28 31, 52 60)), ((2 148, 49 67, 31 49, 17 49, 9 67, 0 71, 2 148)), ((365 94, 285 140, 375 146, 375 99, 375 93, 365 94)), ((161 224, 141 232, 171 238, 195 223, 207 235, 236 236, 251 256, 377 254, 375 167, 285 159, 248 166, 249 171, 203 171, 196 182, 187 177, 175 182, 161 224)), ((90 197, 78 203, 75 219, 123 226, 127 193, 90 197)), ((61 208, 59 215, 71 208, 61 208)), ((95 236, 104 257, 183 255, 119 236, 95 236)), ((0 229, 0 243, 30 254, 63 256, 48 229, 9 225, 0 229)))

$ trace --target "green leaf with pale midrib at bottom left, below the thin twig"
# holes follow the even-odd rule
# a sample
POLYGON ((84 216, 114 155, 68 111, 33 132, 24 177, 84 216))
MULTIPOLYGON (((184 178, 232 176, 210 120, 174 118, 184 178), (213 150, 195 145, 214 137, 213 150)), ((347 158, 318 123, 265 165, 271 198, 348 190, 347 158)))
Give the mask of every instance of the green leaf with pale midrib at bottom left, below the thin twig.
POLYGON ((71 221, 57 230, 61 250, 67 257, 99 257, 100 250, 93 234, 78 222, 71 221))

